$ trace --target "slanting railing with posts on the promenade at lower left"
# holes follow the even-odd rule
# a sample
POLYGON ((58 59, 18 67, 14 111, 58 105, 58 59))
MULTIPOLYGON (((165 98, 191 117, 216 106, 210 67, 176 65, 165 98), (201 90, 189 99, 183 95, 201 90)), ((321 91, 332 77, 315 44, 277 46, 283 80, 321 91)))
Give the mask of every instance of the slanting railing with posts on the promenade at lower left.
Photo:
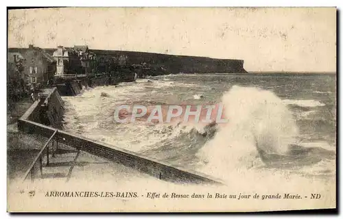
MULTIPOLYGON (((27 179, 27 177, 29 175, 31 175, 31 181, 34 181, 35 178, 35 174, 36 174, 36 170, 35 170, 35 166, 36 164, 39 162, 39 171, 40 171, 40 178, 43 178, 43 156, 44 153, 47 156, 46 159, 46 166, 49 166, 49 144, 50 142, 52 143, 52 145, 54 145, 54 142, 52 141, 57 133, 58 129, 56 129, 56 131, 52 134, 52 136, 49 138, 49 140, 47 140, 47 142, 45 143, 45 145, 43 146, 42 149, 40 149, 38 155, 36 156, 36 158, 34 159, 34 162, 32 162, 32 164, 29 166, 29 169, 25 172, 25 175, 23 177, 23 182, 27 179)), ((57 142, 56 142, 56 149, 57 149, 57 142)))

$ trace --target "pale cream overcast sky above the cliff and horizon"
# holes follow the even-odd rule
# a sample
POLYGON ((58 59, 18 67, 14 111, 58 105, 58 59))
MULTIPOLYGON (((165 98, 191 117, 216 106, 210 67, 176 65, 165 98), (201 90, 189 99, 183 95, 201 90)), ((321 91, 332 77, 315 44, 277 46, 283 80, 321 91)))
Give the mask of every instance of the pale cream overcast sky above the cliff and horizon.
POLYGON ((11 10, 8 46, 149 51, 244 60, 248 71, 336 69, 335 8, 11 10))

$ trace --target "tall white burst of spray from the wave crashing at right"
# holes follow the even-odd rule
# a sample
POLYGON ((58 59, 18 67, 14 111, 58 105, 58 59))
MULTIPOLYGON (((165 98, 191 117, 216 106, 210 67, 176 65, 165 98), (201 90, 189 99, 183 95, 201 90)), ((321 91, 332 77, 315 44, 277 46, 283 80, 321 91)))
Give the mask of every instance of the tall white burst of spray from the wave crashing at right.
POLYGON ((298 136, 292 113, 273 92, 233 86, 222 96, 228 123, 198 153, 204 171, 224 177, 227 170, 241 171, 261 162, 258 150, 283 155, 298 136), (257 146, 259 147, 257 149, 257 146))

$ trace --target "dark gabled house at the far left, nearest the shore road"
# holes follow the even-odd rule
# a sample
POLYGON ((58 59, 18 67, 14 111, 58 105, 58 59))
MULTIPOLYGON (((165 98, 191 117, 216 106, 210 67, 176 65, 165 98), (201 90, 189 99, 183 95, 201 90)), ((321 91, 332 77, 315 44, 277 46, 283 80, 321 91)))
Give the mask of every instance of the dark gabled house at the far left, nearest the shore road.
POLYGON ((54 57, 32 44, 28 49, 8 49, 8 62, 21 66, 20 77, 26 86, 45 85, 56 73, 54 57))

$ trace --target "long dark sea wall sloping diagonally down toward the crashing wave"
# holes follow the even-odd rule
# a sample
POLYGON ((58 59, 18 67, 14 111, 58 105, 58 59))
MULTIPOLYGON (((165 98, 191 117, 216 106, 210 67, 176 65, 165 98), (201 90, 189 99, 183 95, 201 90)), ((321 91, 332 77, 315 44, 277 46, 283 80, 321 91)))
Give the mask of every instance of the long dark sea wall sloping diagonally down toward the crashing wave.
MULTIPOLYGON (((27 133, 36 133, 49 138, 56 129, 35 123, 21 118, 19 120, 19 130, 27 133)), ((99 157, 104 157, 112 162, 129 166, 141 172, 145 172, 153 177, 165 181, 173 181, 177 183, 220 183, 219 179, 212 179, 208 175, 191 170, 183 170, 176 168, 164 162, 157 161, 150 157, 145 157, 132 151, 120 149, 116 146, 97 142, 79 136, 77 134, 67 133, 66 131, 58 130, 55 136, 58 142, 67 144, 77 150, 85 151, 99 157)))

